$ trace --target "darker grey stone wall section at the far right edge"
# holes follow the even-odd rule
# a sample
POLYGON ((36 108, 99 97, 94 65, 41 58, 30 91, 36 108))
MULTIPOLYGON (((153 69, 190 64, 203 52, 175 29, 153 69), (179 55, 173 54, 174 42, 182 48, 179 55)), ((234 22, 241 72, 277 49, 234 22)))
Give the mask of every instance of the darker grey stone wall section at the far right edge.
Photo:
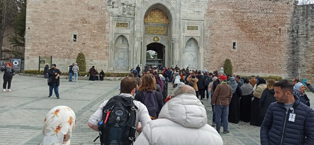
POLYGON ((306 78, 314 83, 314 4, 297 6, 293 13, 293 51, 290 73, 292 77, 306 78))

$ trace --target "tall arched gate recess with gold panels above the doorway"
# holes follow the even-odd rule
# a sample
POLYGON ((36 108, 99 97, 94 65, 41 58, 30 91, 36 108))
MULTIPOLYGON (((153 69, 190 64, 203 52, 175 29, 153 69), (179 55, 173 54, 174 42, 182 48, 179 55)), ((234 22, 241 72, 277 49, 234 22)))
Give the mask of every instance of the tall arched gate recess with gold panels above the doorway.
POLYGON ((144 16, 143 35, 143 65, 170 65, 170 20, 162 9, 165 7, 156 4, 151 6, 144 16), (152 50, 157 53, 157 58, 146 58, 146 51, 152 50))

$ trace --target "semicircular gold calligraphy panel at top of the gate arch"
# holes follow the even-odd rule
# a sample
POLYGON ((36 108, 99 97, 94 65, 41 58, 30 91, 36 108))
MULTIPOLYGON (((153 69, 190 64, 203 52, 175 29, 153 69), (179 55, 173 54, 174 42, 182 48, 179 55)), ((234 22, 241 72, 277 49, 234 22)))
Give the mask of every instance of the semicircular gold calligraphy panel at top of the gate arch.
POLYGON ((145 15, 144 23, 169 24, 169 18, 161 9, 153 8, 145 15))

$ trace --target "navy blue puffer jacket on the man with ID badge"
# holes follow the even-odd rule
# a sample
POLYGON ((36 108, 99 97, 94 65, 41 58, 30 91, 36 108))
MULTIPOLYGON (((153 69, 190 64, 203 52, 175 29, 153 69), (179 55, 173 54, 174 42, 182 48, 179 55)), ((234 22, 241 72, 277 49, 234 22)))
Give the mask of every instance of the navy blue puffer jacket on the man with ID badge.
POLYGON ((314 145, 314 111, 295 97, 295 122, 288 121, 292 110, 283 103, 270 104, 261 125, 262 145, 314 145))

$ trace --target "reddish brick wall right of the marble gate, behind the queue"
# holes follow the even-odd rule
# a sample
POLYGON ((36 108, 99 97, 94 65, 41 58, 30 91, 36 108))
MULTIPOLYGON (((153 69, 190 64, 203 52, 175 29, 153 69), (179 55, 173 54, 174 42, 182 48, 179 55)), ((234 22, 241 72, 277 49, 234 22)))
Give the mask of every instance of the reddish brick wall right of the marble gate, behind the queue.
POLYGON ((234 72, 287 77, 294 8, 294 0, 209 0, 204 68, 219 70, 229 58, 234 72))

